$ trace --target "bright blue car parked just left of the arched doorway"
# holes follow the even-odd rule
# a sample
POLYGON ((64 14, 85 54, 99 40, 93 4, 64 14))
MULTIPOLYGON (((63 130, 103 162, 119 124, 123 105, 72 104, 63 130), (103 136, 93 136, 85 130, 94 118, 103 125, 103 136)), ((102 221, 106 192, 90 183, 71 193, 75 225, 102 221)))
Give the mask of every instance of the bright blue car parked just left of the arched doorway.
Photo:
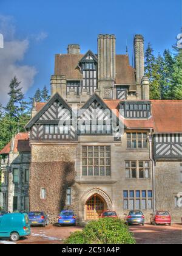
POLYGON ((63 210, 58 218, 59 225, 76 226, 76 216, 71 210, 63 210))

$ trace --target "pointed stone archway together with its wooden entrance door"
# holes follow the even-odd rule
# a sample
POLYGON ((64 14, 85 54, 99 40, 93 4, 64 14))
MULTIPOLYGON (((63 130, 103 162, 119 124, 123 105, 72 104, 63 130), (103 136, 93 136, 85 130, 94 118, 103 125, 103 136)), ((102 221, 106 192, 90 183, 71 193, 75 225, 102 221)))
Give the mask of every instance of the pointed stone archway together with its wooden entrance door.
POLYGON ((112 210, 112 201, 99 188, 87 191, 82 198, 83 219, 98 219, 103 210, 112 210))

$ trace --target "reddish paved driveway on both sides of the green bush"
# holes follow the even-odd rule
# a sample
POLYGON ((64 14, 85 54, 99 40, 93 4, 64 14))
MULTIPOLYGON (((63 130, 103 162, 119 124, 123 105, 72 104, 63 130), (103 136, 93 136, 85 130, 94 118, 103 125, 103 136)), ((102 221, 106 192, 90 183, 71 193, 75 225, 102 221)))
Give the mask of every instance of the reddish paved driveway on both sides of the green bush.
MULTIPOLYGON (((32 227, 32 235, 18 241, 18 244, 61 244, 71 232, 81 230, 81 227, 32 227)), ((138 244, 181 244, 182 226, 131 226, 130 231, 135 235, 138 244)), ((11 243, 0 240, 0 244, 11 243)))

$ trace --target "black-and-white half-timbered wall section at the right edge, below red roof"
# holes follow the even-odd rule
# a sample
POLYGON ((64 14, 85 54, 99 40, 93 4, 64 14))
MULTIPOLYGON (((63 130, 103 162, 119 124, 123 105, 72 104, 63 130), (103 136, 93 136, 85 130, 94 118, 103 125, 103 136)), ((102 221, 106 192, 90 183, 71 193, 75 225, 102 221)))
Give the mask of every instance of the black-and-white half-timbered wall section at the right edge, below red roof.
POLYGON ((155 134, 153 151, 156 160, 182 159, 182 134, 155 134))

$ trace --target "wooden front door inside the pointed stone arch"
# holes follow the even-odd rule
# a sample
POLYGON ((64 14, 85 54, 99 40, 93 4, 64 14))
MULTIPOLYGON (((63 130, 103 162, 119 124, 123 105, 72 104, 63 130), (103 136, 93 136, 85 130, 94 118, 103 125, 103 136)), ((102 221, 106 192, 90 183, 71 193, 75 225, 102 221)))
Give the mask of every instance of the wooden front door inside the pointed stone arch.
POLYGON ((90 197, 86 203, 86 219, 98 219, 104 211, 104 201, 97 195, 90 197))

